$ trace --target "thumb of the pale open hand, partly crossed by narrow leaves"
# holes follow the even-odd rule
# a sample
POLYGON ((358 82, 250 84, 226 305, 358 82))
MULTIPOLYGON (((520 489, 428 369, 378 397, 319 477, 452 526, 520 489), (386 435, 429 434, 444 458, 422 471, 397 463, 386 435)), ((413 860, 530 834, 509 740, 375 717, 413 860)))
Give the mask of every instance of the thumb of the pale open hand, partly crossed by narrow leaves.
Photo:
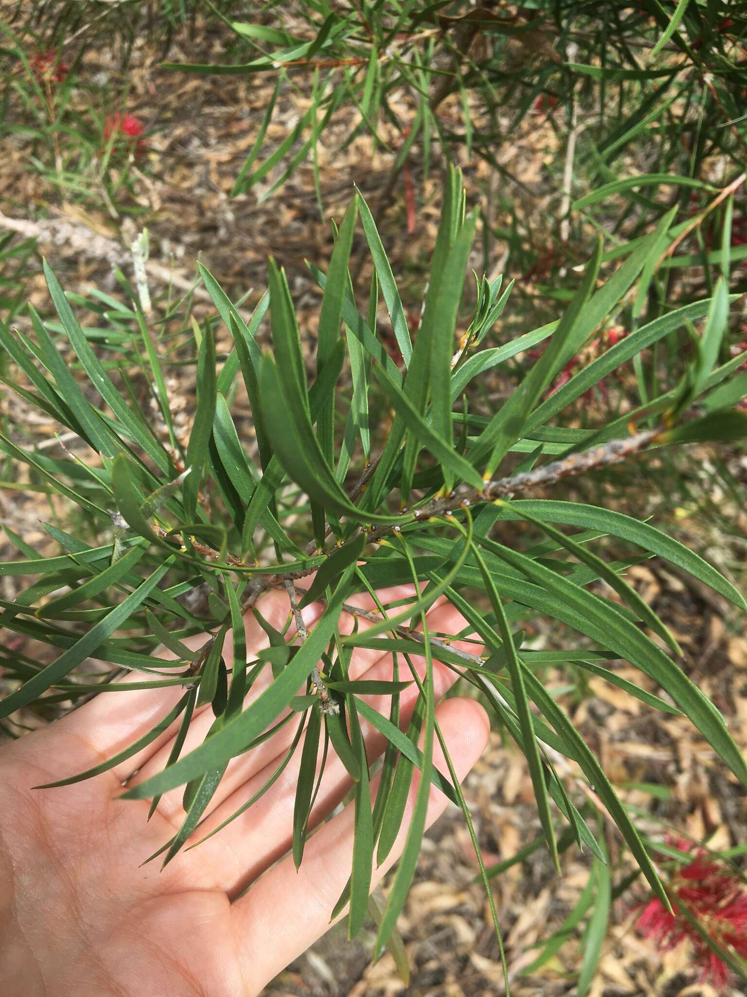
MULTIPOLYGON (((449 755, 462 780, 483 753, 490 730, 487 714, 473 700, 450 699, 436 710, 449 755)), ((440 750, 434 762, 444 766, 440 750)), ((402 829, 386 861, 373 869, 373 886, 402 851, 417 793, 417 775, 410 789, 402 829)), ((377 785, 374 781, 373 792, 377 785)), ((427 826, 442 813, 446 798, 431 788, 427 826)), ((354 808, 346 810, 315 834, 306 845, 296 871, 288 856, 262 877, 232 908, 243 971, 252 992, 304 952, 330 926, 330 913, 350 875, 353 856, 354 808)))

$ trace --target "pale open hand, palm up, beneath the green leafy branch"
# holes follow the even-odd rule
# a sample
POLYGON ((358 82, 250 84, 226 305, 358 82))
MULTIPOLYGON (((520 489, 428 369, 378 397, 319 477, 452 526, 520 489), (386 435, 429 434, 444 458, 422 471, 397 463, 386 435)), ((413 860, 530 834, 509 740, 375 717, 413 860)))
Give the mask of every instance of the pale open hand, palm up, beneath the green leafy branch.
MULTIPOLYGON (((386 602, 411 594, 411 587, 400 587, 379 596, 386 602)), ((366 595, 351 601, 373 608, 366 595)), ((269 622, 283 627, 289 613, 284 591, 268 592, 258 606, 269 622)), ((309 626, 321 611, 318 604, 304 610, 309 626)), ((441 634, 456 634, 465 626, 460 614, 442 601, 429 610, 427 623, 441 634)), ((353 625, 352 617, 341 616, 343 633, 353 625)), ((367 624, 360 619, 359 625, 367 624)), ((251 615, 246 636, 250 653, 267 646, 251 615)), ((192 646, 199 643, 196 639, 192 646)), ((230 646, 229 635, 229 667, 230 646)), ((469 650, 474 652, 473 644, 469 650)), ((424 675, 424 660, 413 659, 413 664, 424 675)), ((400 677, 406 678, 404 662, 400 668, 400 677)), ((389 679, 391 672, 389 656, 355 652, 352 678, 389 679)), ((454 679, 451 670, 434 663, 436 699, 454 679)), ((267 681, 260 676, 248 702, 267 681)), ((353 811, 346 808, 309 838, 296 871, 288 852, 300 750, 253 808, 199 847, 182 850, 162 871, 158 859, 140 863, 181 823, 182 788, 162 797, 149 823, 147 801, 119 798, 125 782, 134 785, 163 768, 175 727, 141 755, 95 779, 32 789, 122 751, 152 728, 179 695, 173 687, 103 693, 48 728, 0 749, 0 980, 6 997, 252 997, 329 928, 330 913, 350 874, 353 811)), ((401 694, 402 725, 416 695, 414 684, 401 694)), ((367 699, 388 713, 387 697, 367 699)), ((485 748, 487 716, 471 700, 449 699, 439 705, 436 717, 463 779, 485 748)), ((202 741, 211 721, 209 707, 195 714, 182 754, 202 741)), ((293 733, 288 724, 258 749, 232 760, 198 836, 262 786, 293 733)), ((364 735, 373 760, 383 751, 383 739, 366 726, 364 735)), ((446 771, 437 746, 434 761, 446 771)), ((332 813, 350 785, 331 751, 313 826, 332 813)), ((373 780, 373 792, 376 785, 373 780)), ((386 863, 373 869, 374 884, 401 851, 416 789, 417 778, 396 845, 386 863)), ((445 806, 445 798, 431 790, 429 825, 445 806)))

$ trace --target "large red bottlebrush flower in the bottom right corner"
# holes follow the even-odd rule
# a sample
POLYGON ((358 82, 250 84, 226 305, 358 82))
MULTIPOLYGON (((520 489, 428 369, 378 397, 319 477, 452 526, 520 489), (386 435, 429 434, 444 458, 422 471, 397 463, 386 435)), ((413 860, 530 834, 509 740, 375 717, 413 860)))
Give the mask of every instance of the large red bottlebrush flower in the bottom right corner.
MULTIPOLYGON (((670 843, 682 852, 692 850, 689 841, 670 843)), ((742 883, 728 867, 698 849, 692 861, 676 870, 668 894, 674 913, 653 897, 638 917, 638 930, 664 951, 689 941, 700 968, 700 979, 724 988, 728 967, 708 945, 703 933, 719 948, 732 949, 742 959, 747 957, 747 892, 743 891, 742 883), (700 930, 692 921, 697 922, 700 930)))

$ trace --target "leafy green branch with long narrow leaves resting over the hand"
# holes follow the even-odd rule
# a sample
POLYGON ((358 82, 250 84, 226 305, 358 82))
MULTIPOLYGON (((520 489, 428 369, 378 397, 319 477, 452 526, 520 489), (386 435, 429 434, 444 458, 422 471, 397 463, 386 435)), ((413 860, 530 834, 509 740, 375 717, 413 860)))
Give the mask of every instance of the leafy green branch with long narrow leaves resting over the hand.
MULTIPOLYGON (((233 351, 218 370, 213 323, 195 327, 197 399, 183 443, 174 432, 141 284, 140 295, 131 291, 129 303, 119 306, 118 320, 129 330, 128 337, 116 337, 103 362, 45 264, 61 325, 45 323, 29 306, 33 336, 0 325, 0 340, 19 372, 12 381, 15 391, 85 447, 73 461, 25 450, 7 436, 0 436, 0 448, 19 470, 26 466, 36 487, 84 510, 99 538, 91 545, 49 524, 47 530, 63 551, 59 556, 42 558, 18 537, 24 558, 0 565, 0 573, 35 579, 16 600, 2 603, 0 625, 62 649, 46 665, 0 649, 6 678, 17 684, 0 704, 0 718, 8 720, 22 709, 44 713, 50 703, 75 703, 96 693, 111 675, 79 670, 94 654, 142 672, 143 681, 152 686, 183 685, 177 710, 182 727, 195 703, 211 703, 215 723, 203 744, 181 758, 176 753, 160 774, 125 794, 143 799, 186 787, 186 818, 181 831, 164 842, 166 860, 197 828, 209 808, 210 787, 214 792, 229 759, 251 751, 268 727, 290 723, 300 735, 314 718, 314 737, 329 738, 355 788, 360 836, 354 874, 336 908, 350 900, 351 934, 360 929, 367 910, 373 853, 380 859, 393 840, 403 817, 400 790, 418 767, 423 790, 405 858, 380 919, 378 953, 414 873, 431 783, 461 806, 476 843, 458 785, 432 765, 438 731, 431 669, 438 660, 484 697, 526 756, 542 832, 556 866, 559 848, 574 841, 590 849, 599 863, 604 864, 606 853, 588 823, 588 811, 585 817, 577 809, 559 777, 548 746, 578 766, 617 824, 654 896, 668 907, 666 889, 628 811, 592 749, 538 677, 538 668, 556 660, 557 653, 522 648, 518 624, 527 612, 542 613, 583 635, 582 647, 572 644, 562 651, 564 661, 602 676, 651 708, 685 713, 723 765, 747 785, 747 766, 721 714, 677 663, 678 645, 666 626, 625 581, 622 572, 630 561, 603 559, 593 541, 609 534, 644 555, 656 554, 745 609, 742 595, 693 551, 639 518, 603 505, 531 497, 533 491, 551 491, 562 479, 594 475, 623 461, 645 461, 665 448, 747 435, 747 415, 734 408, 742 393, 739 375, 732 377, 745 353, 721 356, 730 302, 723 278, 710 296, 665 312, 622 338, 613 337, 614 344, 598 335, 606 320, 630 301, 636 285, 639 291, 650 280, 677 239, 672 221, 673 212, 668 212, 652 232, 616 253, 622 263, 612 271, 600 243, 557 322, 481 348, 510 306, 511 286, 502 288, 500 278, 481 278, 466 331, 457 335, 457 326, 463 328, 459 306, 477 224, 476 212, 466 212, 459 173, 450 170, 446 177, 416 330, 408 326, 371 211, 357 193, 340 224, 328 272, 312 268, 324 296, 311 386, 288 281, 275 261, 269 263, 268 292, 248 321, 215 277, 199 266, 233 351), (359 219, 374 264, 365 314, 349 275, 359 219), (600 277, 603 266, 605 279, 600 277), (379 294, 401 369, 376 335, 379 294), (263 353, 256 340, 268 312, 273 354, 263 353), (63 338, 56 338, 58 328, 63 338), (680 351, 680 367, 672 367, 669 383, 660 384, 654 397, 593 429, 554 425, 568 405, 602 378, 665 337, 691 349, 680 351), (599 340, 595 359, 572 370, 572 358, 594 339, 599 340), (544 346, 541 356, 520 373, 518 383, 505 376, 508 396, 503 404, 487 416, 472 414, 462 399, 473 381, 489 370, 500 371, 500 365, 538 344, 544 346), (70 357, 88 381, 80 383, 73 376, 70 357), (163 433, 137 402, 128 373, 133 365, 148 378, 163 433), (344 369, 349 372, 345 377, 344 369), (251 405, 259 466, 242 447, 228 402, 239 377, 251 405), (376 454, 369 425, 373 400, 384 400, 393 412, 376 454), (519 530, 511 545, 499 542, 490 536, 499 520, 529 524, 544 541, 527 546, 527 533, 519 530), (312 574, 308 592, 296 588, 297 581, 312 574), (612 591, 591 591, 597 580, 612 591), (338 617, 352 593, 409 581, 419 586, 414 604, 402 609, 379 603, 376 613, 359 612, 373 626, 341 635, 338 617), (209 596, 205 612, 198 614, 187 596, 202 586, 209 596), (300 637, 291 643, 265 622, 271 646, 247 661, 242 614, 256 612, 257 596, 272 586, 287 588, 297 620, 298 606, 306 601, 319 599, 327 608, 310 633, 301 622, 300 637), (452 646, 449 635, 428 633, 424 613, 440 595, 469 621, 474 653, 452 646), (229 675, 220 649, 231 627, 229 675), (191 654, 182 639, 195 633, 210 637, 191 654), (162 642, 178 655, 173 666, 182 670, 174 677, 163 678, 158 671, 163 662, 153 663, 151 654, 162 642), (390 649, 399 661, 398 675, 376 690, 350 680, 348 660, 356 647, 390 649), (411 667, 414 654, 425 656, 422 681, 411 667), (622 679, 611 665, 619 658, 640 669, 648 680, 644 684, 656 694, 622 679), (244 707, 245 693, 264 668, 272 669, 273 682, 244 707), (152 681, 149 674, 155 675, 152 681), (410 678, 418 685, 418 706, 402 733, 396 724, 398 696, 402 682, 410 678), (362 700, 372 691, 390 697, 388 716, 362 700), (360 717, 388 742, 373 810, 360 717), (416 747, 420 728, 422 752, 416 747), (570 831, 559 844, 556 826, 564 822, 570 831)), ((143 243, 139 251, 144 251, 143 243)), ((12 734, 12 728, 6 729, 12 734)), ((157 728, 146 737, 155 733, 157 728)), ((291 751, 298 744, 296 739, 291 751)), ((140 739, 117 762, 142 745, 140 739)), ((61 783, 86 779, 114 764, 88 773, 61 773, 61 783)), ((293 848, 299 860, 319 778, 313 764, 304 773, 294 821, 293 848)), ((492 907, 487 872, 479 849, 477 853, 492 907)))

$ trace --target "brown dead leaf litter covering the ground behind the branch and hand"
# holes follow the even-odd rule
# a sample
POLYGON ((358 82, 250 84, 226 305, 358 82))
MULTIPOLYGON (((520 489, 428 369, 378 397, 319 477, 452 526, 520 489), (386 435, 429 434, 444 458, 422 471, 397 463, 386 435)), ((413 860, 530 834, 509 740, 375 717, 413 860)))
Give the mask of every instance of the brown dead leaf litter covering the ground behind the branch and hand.
MULTIPOLYGON (((211 31, 199 37, 196 47, 193 41, 181 49, 177 45, 170 58, 220 61, 225 39, 220 31, 211 31)), ((22 139, 6 144, 6 155, 0 162, 2 211, 21 223, 19 237, 23 224, 41 228, 40 247, 63 284, 80 292, 90 286, 114 291, 113 259, 126 267, 126 246, 136 229, 147 225, 151 260, 160 267, 160 275, 155 271, 150 275, 156 308, 169 272, 176 277, 178 293, 191 284, 193 261, 198 255, 234 297, 253 288, 251 303, 264 287, 267 255, 273 253, 288 269, 311 351, 320 295, 304 261, 325 265, 332 245, 329 217, 342 215, 354 183, 375 205, 377 194, 385 189, 393 155, 373 151, 366 138, 357 139, 341 153, 353 121, 350 115, 341 113, 319 148, 324 219, 316 204, 310 162, 300 166, 282 190, 265 201, 261 201, 261 194, 280 175, 282 165, 268 175, 264 187, 231 198, 229 191, 256 138, 272 81, 255 78, 247 84, 231 77, 164 74, 157 63, 156 53, 135 49, 128 74, 126 110, 147 124, 149 151, 145 162, 136 166, 129 199, 115 214, 96 198, 80 202, 54 193, 47 180, 28 167, 29 146, 22 139)), ((102 52, 88 53, 83 71, 119 79, 114 59, 102 52)), ((289 93, 279 101, 268 131, 268 149, 285 138, 308 107, 308 86, 299 83, 297 94, 289 93)), ((413 107, 404 93, 394 95, 391 103, 403 122, 411 120, 413 107)), ((447 120, 451 116, 455 129, 458 127, 458 110, 449 102, 439 113, 447 120)), ((387 133, 386 128, 384 124, 384 138, 395 142, 393 129, 387 133)), ((549 168, 557 151, 558 137, 552 125, 538 118, 530 120, 522 134, 514 137, 510 149, 498 154, 502 166, 521 178, 523 186, 513 195, 537 219, 537 232, 542 232, 543 212, 557 204, 557 180, 549 168)), ((471 196, 475 200, 487 197, 487 210, 492 211, 490 198, 496 176, 482 162, 465 161, 462 166, 471 196)), ((413 164, 413 175, 417 191, 414 232, 407 232, 400 181, 390 204, 382 205, 385 210, 380 216, 387 252, 397 278, 401 278, 405 302, 416 307, 422 291, 420 263, 427 259, 437 223, 440 180, 436 171, 424 179, 417 163, 413 164)), ((505 220, 509 222, 510 218, 505 220)), ((535 248, 539 252, 543 246, 538 241, 535 248)), ((487 262, 494 272, 500 272, 504 253, 505 246, 500 243, 490 247, 487 262)), ((362 276, 364 287, 366 270, 362 276)), ((48 309, 40 274, 32 276, 28 291, 38 307, 48 309)), ((204 309, 204 301, 195 300, 198 317, 204 309)), ((225 351, 227 346, 227 340, 218 343, 219 350, 225 351)), ((184 412, 188 428, 192 368, 176 367, 173 377, 173 397, 184 412)), ((240 399, 238 404, 242 404, 240 399)), ((27 441, 33 439, 43 448, 58 446, 55 428, 24 409, 17 399, 6 398, 2 407, 6 416, 12 415, 16 427, 22 428, 27 441)), ((239 426, 250 439, 248 412, 239 411, 239 426)), ((694 466, 697 459, 692 460, 694 466)), ((744 459, 737 459, 734 471, 737 480, 744 483, 744 459)), ((642 477, 631 475, 624 488, 628 510, 636 509, 641 515, 651 511, 642 477)), ((594 500, 588 495, 583 498, 594 500)), ((732 512, 734 531, 744 536, 745 512, 732 512)), ((47 542, 39 519, 48 518, 49 509, 43 508, 33 493, 0 492, 0 517, 28 542, 39 544, 40 549, 47 542)), ((688 523, 695 518, 687 518, 678 535, 718 557, 724 541, 714 536, 713 530, 709 532, 707 521, 690 527, 694 532, 688 534, 688 523)), ((8 543, 0 554, 17 556, 8 543)), ((743 551, 740 556, 744 556, 743 551)), ((627 577, 671 627, 683 647, 685 669, 724 712, 738 743, 747 749, 747 637, 742 622, 719 596, 655 560, 631 568, 627 577)), ((3 597, 12 598, 13 579, 3 579, 3 585, 7 589, 3 597)), ((10 637, 12 641, 18 639, 10 637)), ((530 646, 540 649, 563 648, 576 638, 537 619, 528 624, 526 639, 530 646)), ((627 665, 617 667, 629 681, 647 681, 627 665)), ((546 681, 559 688, 568 682, 568 673, 548 671, 546 681)), ((652 686, 651 691, 655 691, 652 686)), ((571 692, 562 695, 562 701, 611 779, 622 787, 626 802, 650 815, 638 819, 643 831, 660 835, 656 820, 663 820, 695 838, 708 835, 717 847, 745 840, 744 793, 685 720, 655 713, 596 678, 588 682, 584 698, 576 698, 571 692), (672 790, 671 798, 657 801, 640 790, 624 789, 625 784, 633 783, 667 787, 672 790)), ((569 790, 583 800, 574 769, 568 768, 566 779, 569 790)), ((489 750, 467 779, 465 793, 488 864, 510 857, 539 834, 525 763, 513 747, 502 742, 498 732, 492 735, 489 750)), ((620 839, 609 827, 607 843, 614 859, 614 879, 619 882, 631 865, 621 856, 620 839)), ((588 857, 570 848, 561 861, 563 874, 557 876, 546 851, 538 849, 493 880, 511 991, 517 997, 562 997, 575 991, 575 974, 583 958, 583 943, 577 934, 541 970, 522 975, 538 952, 534 946, 560 926, 586 885, 588 857)), ((268 986, 266 993, 273 997, 502 994, 503 974, 487 904, 482 888, 472 883, 476 871, 461 816, 450 808, 426 838, 417 878, 399 923, 411 967, 409 986, 399 980, 390 956, 369 965, 372 937, 349 944, 342 929, 336 928, 268 986)), ((636 882, 614 903, 612 927, 592 984, 592 997, 711 997, 713 991, 708 986, 694 982, 686 948, 662 956, 636 935, 636 909, 646 898, 647 891, 636 882)), ((732 990, 732 994, 742 993, 740 989, 732 990)))

